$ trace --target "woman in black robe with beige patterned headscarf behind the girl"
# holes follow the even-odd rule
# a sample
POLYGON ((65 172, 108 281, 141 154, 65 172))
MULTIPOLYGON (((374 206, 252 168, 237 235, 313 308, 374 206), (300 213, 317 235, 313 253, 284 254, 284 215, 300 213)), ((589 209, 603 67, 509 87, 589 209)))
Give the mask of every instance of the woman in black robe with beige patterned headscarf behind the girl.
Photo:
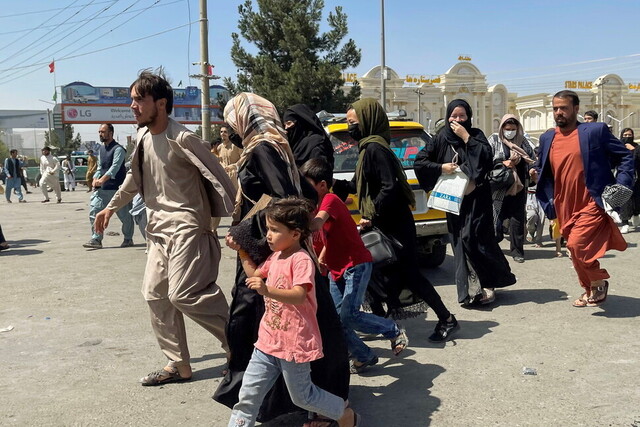
MULTIPOLYGON (((236 132, 232 137, 240 139, 243 146, 237 163, 240 183, 236 196, 237 217, 244 217, 263 194, 274 198, 299 196, 300 175, 273 104, 255 94, 241 93, 227 103, 224 118, 236 132)), ((264 313, 263 297, 247 288, 245 279, 238 260, 226 331, 231 352, 229 369, 213 395, 214 400, 229 407, 238 401, 242 376, 251 359, 264 313)), ((315 290, 324 357, 311 363, 311 378, 318 387, 346 400, 349 359, 342 325, 328 288, 316 286, 315 290)), ((280 378, 265 398, 258 420, 266 422, 297 409, 280 378)))

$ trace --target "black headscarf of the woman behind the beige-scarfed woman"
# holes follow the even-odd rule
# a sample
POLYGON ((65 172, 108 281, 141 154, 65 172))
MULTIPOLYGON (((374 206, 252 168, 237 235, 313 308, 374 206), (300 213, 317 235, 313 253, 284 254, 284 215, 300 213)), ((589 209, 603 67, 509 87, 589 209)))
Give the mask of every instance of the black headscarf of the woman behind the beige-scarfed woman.
POLYGON ((322 123, 313 110, 305 104, 293 105, 284 112, 282 121, 296 124, 287 129, 287 139, 298 166, 307 160, 322 157, 333 168, 333 145, 322 123))

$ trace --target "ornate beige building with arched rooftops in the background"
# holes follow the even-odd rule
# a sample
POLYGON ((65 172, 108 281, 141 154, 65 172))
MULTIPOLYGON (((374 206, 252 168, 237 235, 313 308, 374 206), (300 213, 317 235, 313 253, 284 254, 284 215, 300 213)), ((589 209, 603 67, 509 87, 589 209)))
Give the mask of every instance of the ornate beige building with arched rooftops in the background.
MULTIPOLYGON (((534 141, 555 126, 551 108, 553 93, 519 97, 502 84, 488 86, 486 76, 469 61, 458 62, 446 73, 436 76, 400 76, 386 68, 386 110, 405 110, 409 118, 422 123, 429 131, 438 119, 444 118, 448 102, 456 98, 471 105, 473 125, 486 134, 497 131, 506 113, 518 116, 534 141)), ((380 71, 381 67, 376 66, 361 77, 345 75, 345 89, 357 79, 363 97, 380 98, 380 71)), ((593 82, 567 81, 564 86, 580 96, 581 112, 595 110, 601 116, 599 121, 610 124, 614 134, 619 135, 624 127, 640 127, 640 84, 627 84, 616 74, 606 74, 593 82)))

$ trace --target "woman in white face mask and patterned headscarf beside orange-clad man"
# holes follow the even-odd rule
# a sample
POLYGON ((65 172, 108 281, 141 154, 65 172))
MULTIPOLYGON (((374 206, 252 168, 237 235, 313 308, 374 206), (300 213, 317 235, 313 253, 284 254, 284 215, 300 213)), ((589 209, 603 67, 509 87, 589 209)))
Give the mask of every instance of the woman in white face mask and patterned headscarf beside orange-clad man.
POLYGON ((524 262, 524 236, 526 228, 527 187, 529 169, 535 162, 533 145, 524 136, 522 125, 513 114, 505 114, 498 132, 489 137, 493 162, 513 169, 522 187, 497 189, 492 192, 496 238, 503 239, 502 224, 509 220, 510 250, 513 260, 524 262))

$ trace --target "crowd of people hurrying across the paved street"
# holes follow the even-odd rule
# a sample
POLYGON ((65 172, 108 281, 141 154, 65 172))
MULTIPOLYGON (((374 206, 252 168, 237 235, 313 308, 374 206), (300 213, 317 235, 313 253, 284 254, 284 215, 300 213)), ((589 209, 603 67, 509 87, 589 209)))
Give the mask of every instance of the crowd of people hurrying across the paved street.
MULTIPOLYGON (((394 320, 401 292, 410 291, 434 310, 430 341, 447 341, 459 329, 418 268, 414 193, 376 100, 364 98, 347 109, 358 159, 353 179, 346 181, 333 177, 331 141, 309 106, 289 107, 281 121, 269 100, 240 93, 226 104, 220 143, 209 145, 169 117, 173 90, 162 76, 144 71, 130 92, 139 127, 135 151, 127 171, 126 150, 113 139, 113 126, 100 126, 102 145, 87 172, 92 236, 84 246, 102 247, 114 214, 122 222, 121 247, 132 246, 132 213, 138 223, 144 216, 142 293, 166 364, 144 376, 142 385, 192 378, 186 315, 225 351, 224 378, 213 398, 232 409, 229 426, 301 408, 310 414, 308 426, 350 427, 360 419, 349 402, 350 375, 379 360, 358 333, 388 340, 393 357, 403 354, 411 334, 420 333, 394 320), (374 267, 344 203, 349 194, 357 196, 361 229, 375 228, 400 243, 395 263, 374 267), (226 244, 237 251, 229 302, 218 286, 216 219, 225 216, 233 217, 226 244), (361 306, 374 270, 385 280, 369 313, 361 306)), ((540 244, 545 217, 556 221, 583 289, 573 305, 596 307, 607 299, 610 275, 598 259, 627 247, 622 233, 640 213, 640 154, 633 130, 624 129, 618 139, 603 123, 578 123, 574 92, 558 92, 552 103, 557 126, 534 147, 517 117, 505 115, 487 138, 473 127, 470 105, 453 100, 433 143, 416 156, 424 191, 454 173, 467 179, 459 212, 447 213, 462 307, 491 304, 496 289, 516 284, 499 243, 508 234, 512 259, 525 262, 525 241, 540 244), (499 186, 494 173, 509 179, 499 186)), ((6 199, 15 191, 22 202, 15 155, 4 165, 6 199)), ((71 158, 60 164, 45 147, 43 202, 49 201, 47 187, 61 201, 60 168, 73 191, 71 158)), ((0 228, 0 250, 6 248, 0 228)))

